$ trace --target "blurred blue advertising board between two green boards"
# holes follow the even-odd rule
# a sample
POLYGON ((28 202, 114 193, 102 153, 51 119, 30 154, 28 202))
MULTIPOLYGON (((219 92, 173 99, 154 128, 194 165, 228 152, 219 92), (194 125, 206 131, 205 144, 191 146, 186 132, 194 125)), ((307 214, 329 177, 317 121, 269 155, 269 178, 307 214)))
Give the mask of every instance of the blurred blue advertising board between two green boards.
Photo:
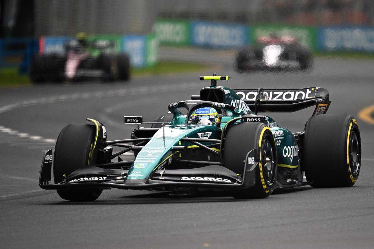
POLYGON ((249 43, 248 27, 240 24, 191 22, 190 44, 206 47, 242 47, 249 43))

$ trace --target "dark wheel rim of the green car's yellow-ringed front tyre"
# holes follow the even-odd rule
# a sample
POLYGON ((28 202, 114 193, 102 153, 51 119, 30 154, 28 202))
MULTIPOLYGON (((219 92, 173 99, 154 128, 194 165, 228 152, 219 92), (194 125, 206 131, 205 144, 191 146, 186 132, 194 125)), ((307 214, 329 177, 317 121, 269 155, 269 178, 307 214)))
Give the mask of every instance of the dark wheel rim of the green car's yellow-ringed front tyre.
POLYGON ((264 180, 267 184, 271 185, 274 181, 275 176, 275 160, 273 147, 270 141, 265 138, 263 141, 262 151, 261 151, 261 163, 263 166, 264 180))

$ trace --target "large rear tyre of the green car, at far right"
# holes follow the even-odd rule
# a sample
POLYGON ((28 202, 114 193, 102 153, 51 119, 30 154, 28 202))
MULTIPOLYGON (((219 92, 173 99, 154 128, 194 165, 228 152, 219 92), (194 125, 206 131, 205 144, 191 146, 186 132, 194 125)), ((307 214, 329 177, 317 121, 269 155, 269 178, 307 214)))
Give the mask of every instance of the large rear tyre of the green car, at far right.
POLYGON ((313 187, 350 187, 361 168, 361 138, 349 115, 316 115, 305 125, 303 160, 313 187))

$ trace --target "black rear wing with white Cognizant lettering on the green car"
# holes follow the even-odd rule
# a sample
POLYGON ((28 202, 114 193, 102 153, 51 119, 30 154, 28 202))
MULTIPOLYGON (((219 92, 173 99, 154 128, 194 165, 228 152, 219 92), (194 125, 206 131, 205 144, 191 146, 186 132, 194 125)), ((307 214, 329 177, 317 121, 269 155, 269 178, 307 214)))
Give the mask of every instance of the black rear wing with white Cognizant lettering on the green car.
POLYGON ((331 103, 324 88, 303 89, 232 89, 251 110, 258 112, 295 112, 316 106, 313 115, 325 114, 331 103), (257 97, 260 92, 260 98, 257 97), (257 99, 257 105, 256 105, 257 99))

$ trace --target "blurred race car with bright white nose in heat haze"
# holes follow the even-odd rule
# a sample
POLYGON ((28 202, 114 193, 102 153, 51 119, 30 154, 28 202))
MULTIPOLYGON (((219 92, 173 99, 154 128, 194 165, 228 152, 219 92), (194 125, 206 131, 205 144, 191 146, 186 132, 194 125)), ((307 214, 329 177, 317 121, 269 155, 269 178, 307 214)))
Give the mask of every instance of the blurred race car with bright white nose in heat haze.
POLYGON ((295 37, 259 37, 254 46, 237 53, 237 72, 307 70, 313 66, 313 56, 295 37))

